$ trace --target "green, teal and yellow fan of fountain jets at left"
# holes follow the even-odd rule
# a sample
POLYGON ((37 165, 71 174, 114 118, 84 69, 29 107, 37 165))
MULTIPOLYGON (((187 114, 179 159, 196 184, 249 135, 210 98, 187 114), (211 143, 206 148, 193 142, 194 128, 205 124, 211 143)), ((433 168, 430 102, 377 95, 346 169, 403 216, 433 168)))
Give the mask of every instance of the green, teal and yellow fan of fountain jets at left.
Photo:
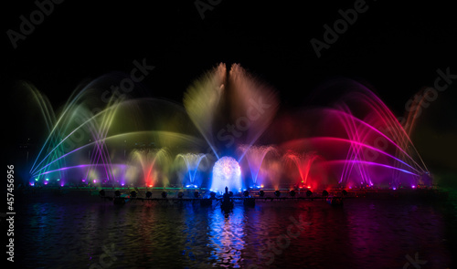
POLYGON ((41 109, 37 114, 48 125, 48 132, 43 132, 47 134, 45 142, 31 163, 31 183, 47 177, 58 178, 62 184, 109 181, 124 185, 139 183, 141 177, 139 185, 162 187, 169 184, 169 178, 168 164, 158 161, 162 160, 157 157, 160 149, 173 149, 170 155, 178 149, 203 149, 204 143, 196 137, 197 129, 189 124, 182 106, 156 98, 106 100, 105 89, 116 78, 105 76, 77 88, 58 110, 58 117, 45 98, 27 86, 41 109), (146 153, 134 146, 144 140, 152 145, 146 153), (157 154, 150 156, 153 153, 157 154), (162 174, 159 181, 152 178, 156 173, 162 174))

